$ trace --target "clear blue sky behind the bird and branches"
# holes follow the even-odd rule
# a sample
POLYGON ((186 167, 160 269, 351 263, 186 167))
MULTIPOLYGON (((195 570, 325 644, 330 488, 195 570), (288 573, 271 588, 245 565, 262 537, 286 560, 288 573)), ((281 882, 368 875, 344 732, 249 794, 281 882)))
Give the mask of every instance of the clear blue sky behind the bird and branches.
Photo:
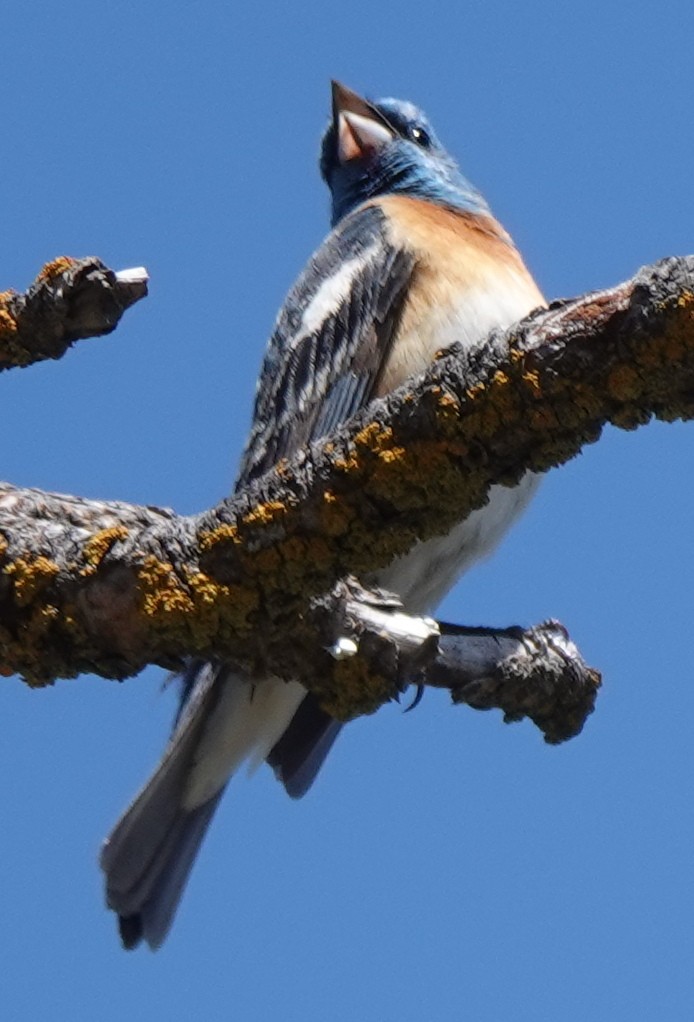
MULTIPOLYGON (((549 296, 694 248, 682 2, 15 2, 0 286, 145 264, 108 338, 2 379, 2 475, 192 512, 235 473, 275 312, 327 228, 331 76, 420 103, 549 296)), ((163 672, 0 686, 0 1016, 694 1018, 694 424, 608 430, 445 615, 561 618, 585 733, 429 694, 351 726, 292 803, 238 779, 171 939, 121 950, 100 841, 153 765, 163 672)))

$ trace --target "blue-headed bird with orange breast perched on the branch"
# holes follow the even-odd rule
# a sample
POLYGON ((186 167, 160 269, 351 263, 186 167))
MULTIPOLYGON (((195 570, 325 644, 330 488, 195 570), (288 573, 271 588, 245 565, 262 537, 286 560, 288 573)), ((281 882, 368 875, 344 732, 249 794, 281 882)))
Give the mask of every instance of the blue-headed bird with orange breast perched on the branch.
MULTIPOLYGON (((290 289, 270 337, 236 490, 424 371, 543 307, 518 250, 426 115, 332 83, 320 171, 331 231, 290 289)), ((447 536, 417 543, 369 583, 430 612, 525 508, 538 476, 495 485, 447 536)), ((242 763, 266 761, 287 793, 311 787, 340 728, 300 680, 248 678, 191 659, 169 744, 101 850, 123 946, 167 937, 220 799, 242 763)))

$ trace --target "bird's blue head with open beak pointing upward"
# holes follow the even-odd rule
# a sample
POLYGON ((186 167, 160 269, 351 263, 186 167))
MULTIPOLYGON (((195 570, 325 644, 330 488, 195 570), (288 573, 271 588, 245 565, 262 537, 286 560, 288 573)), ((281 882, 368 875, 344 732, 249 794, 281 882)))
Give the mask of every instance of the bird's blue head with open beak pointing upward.
POLYGON ((368 102, 332 83, 332 122, 321 146, 332 224, 376 195, 411 195, 466 213, 490 212, 424 113, 401 99, 368 102))

